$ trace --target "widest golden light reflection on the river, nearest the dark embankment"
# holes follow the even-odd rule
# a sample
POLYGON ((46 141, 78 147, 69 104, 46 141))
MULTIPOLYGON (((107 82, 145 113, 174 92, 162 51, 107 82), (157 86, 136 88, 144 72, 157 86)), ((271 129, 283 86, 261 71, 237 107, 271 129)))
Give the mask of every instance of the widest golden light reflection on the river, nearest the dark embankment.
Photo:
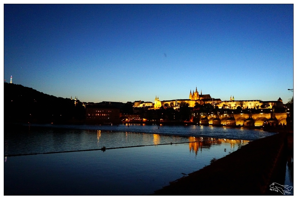
POLYGON ((216 139, 216 138, 203 139, 202 137, 189 137, 189 150, 192 152, 195 152, 195 154, 197 155, 197 152, 199 150, 202 151, 202 148, 209 148, 211 145, 222 144, 222 143, 230 143, 230 149, 234 150, 236 145, 240 147, 247 144, 248 142, 249 141, 247 140, 232 140, 232 139, 230 140, 230 139, 216 139))

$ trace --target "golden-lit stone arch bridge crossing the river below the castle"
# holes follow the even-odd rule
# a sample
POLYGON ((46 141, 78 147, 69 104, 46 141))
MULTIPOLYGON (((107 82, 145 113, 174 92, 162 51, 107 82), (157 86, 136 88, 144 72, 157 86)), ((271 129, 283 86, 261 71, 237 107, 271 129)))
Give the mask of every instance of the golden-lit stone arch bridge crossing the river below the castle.
POLYGON ((287 124, 287 113, 241 113, 207 115, 200 119, 201 125, 245 125, 262 126, 264 122, 272 124, 287 124))

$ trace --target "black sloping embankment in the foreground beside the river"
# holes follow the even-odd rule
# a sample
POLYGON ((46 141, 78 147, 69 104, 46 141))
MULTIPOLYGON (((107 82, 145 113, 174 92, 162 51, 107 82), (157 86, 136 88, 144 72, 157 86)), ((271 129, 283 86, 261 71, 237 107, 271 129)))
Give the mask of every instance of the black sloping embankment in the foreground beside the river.
POLYGON ((269 195, 269 185, 284 180, 292 137, 293 133, 278 133, 249 142, 154 195, 269 195))

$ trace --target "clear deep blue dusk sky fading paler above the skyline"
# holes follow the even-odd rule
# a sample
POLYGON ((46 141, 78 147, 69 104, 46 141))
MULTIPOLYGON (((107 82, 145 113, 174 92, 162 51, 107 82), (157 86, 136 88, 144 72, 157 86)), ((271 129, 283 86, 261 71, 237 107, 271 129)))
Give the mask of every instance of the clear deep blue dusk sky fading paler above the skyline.
POLYGON ((293 4, 4 5, 4 79, 80 101, 293 96, 293 4))

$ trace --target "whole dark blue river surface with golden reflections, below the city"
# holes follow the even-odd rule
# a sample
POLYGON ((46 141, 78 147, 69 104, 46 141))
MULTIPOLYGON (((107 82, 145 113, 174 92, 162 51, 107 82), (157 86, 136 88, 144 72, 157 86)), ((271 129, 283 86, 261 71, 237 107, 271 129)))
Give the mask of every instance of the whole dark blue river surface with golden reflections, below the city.
POLYGON ((195 125, 25 126, 4 132, 4 195, 148 195, 272 134, 195 125))

